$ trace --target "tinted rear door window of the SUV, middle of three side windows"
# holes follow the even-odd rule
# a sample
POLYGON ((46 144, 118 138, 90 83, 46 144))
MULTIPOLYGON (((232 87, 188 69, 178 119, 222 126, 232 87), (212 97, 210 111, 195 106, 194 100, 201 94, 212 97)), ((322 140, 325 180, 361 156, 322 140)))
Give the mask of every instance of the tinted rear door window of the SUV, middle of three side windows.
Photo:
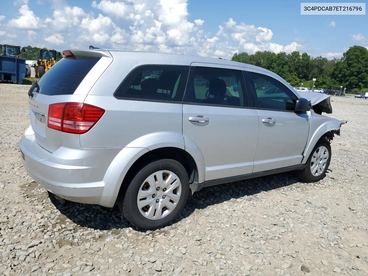
POLYGON ((184 102, 226 106, 248 105, 241 71, 213 67, 193 69, 194 74, 188 82, 184 102))

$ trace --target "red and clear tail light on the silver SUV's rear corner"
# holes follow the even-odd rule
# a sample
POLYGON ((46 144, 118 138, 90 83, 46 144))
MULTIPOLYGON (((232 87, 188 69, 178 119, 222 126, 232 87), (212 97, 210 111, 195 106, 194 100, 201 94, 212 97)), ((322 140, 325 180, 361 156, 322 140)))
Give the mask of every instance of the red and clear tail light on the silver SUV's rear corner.
POLYGON ((49 106, 47 127, 83 134, 98 122, 103 113, 105 110, 86 103, 55 103, 49 106))

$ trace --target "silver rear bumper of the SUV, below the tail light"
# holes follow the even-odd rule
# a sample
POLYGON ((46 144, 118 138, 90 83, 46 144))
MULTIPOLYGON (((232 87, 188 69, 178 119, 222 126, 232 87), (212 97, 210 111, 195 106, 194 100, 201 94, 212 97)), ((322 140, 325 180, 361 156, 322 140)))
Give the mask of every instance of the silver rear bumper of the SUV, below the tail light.
MULTIPOLYGON (((25 170, 38 183, 70 201, 99 204, 106 171, 121 149, 70 149, 61 147, 51 153, 43 149, 30 130, 20 141, 25 170)), ((111 206, 107 206, 111 207, 111 206)))

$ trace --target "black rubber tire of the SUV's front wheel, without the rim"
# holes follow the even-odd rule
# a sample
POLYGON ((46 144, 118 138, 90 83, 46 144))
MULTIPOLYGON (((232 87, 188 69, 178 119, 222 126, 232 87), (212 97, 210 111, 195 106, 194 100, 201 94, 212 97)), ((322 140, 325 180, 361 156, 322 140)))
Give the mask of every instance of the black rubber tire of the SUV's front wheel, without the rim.
POLYGON ((304 182, 307 182, 307 183, 317 182, 325 176, 326 171, 327 171, 327 169, 330 165, 330 161, 331 161, 331 145, 325 138, 322 137, 321 139, 318 140, 318 142, 314 146, 314 148, 311 152, 311 155, 309 156, 309 158, 307 160, 307 166, 303 170, 296 171, 297 176, 298 176, 298 178, 300 178, 300 180, 302 180, 304 182), (326 149, 329 153, 329 157, 327 159, 326 166, 325 166, 323 172, 319 176, 314 176, 311 172, 311 160, 312 160, 312 157, 313 157, 316 149, 318 149, 320 146, 325 146, 326 147, 326 149))

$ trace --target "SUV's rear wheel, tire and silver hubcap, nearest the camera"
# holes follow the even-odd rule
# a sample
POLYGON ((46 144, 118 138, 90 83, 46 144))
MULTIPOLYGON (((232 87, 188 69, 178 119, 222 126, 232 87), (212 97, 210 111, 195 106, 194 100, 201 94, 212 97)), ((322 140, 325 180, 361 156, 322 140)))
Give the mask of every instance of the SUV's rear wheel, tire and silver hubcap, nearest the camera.
POLYGON ((124 217, 143 230, 155 230, 176 219, 189 195, 183 165, 173 159, 147 164, 135 174, 118 206, 124 217))

